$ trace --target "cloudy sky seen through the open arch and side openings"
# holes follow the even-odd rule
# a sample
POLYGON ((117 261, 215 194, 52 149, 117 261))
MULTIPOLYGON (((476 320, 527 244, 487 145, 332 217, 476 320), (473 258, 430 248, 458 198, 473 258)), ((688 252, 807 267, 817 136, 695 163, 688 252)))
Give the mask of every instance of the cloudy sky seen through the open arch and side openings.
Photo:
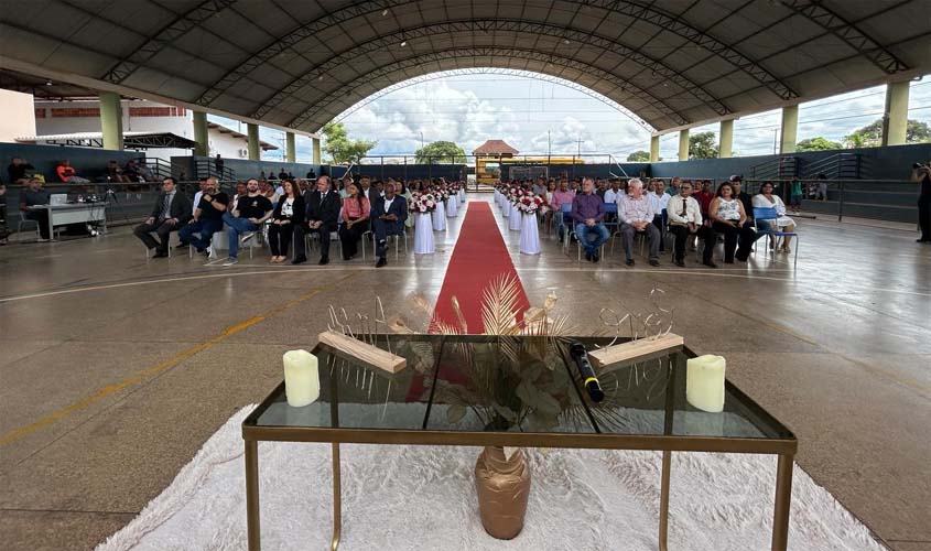
MULTIPOLYGON (((802 104, 798 139, 816 136, 841 141, 851 131, 881 117, 885 87, 802 104)), ((912 82, 909 118, 931 123, 931 76, 912 82)), ((773 152, 780 111, 750 115, 734 125, 735 155, 773 152)), ((613 154, 625 160, 649 150, 650 132, 616 108, 584 91, 527 76, 456 75, 421 82, 391 91, 347 116, 349 136, 378 141, 371 155, 413 153, 421 143, 456 142, 467 153, 487 139, 504 139, 521 153, 553 155, 613 154)), ((692 132, 714 131, 718 125, 692 132)), ((281 144, 283 132, 262 129, 261 137, 281 144)), ((660 140, 660 156, 676 155, 678 134, 660 140)), ((267 159, 281 159, 281 151, 267 159)), ((297 160, 311 161, 310 139, 299 138, 297 160)))

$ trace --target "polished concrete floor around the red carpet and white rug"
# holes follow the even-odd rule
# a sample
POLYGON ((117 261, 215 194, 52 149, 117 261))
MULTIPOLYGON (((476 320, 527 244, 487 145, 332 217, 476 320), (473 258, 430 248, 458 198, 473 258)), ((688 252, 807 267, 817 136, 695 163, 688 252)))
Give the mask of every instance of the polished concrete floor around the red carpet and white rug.
MULTIPOLYGON (((118 530, 278 383, 283 350, 313 346, 328 304, 365 310, 377 292, 410 316, 411 293, 435 301, 461 222, 437 234, 436 255, 415 257, 411 239, 377 271, 272 266, 263 250, 234 268, 147 262, 126 228, 0 248, 3 549, 89 549, 118 530)), ((531 302, 555 290, 577 333, 598 331, 600 307, 645 311, 663 289, 675 331, 727 357, 728 378, 795 432, 819 484, 891 549, 929 550, 931 247, 895 229, 800 230, 798 269, 784 256, 718 270, 638 257, 631 269, 619 247, 597 267, 548 238, 541 256, 519 255, 502 226, 531 302)))

